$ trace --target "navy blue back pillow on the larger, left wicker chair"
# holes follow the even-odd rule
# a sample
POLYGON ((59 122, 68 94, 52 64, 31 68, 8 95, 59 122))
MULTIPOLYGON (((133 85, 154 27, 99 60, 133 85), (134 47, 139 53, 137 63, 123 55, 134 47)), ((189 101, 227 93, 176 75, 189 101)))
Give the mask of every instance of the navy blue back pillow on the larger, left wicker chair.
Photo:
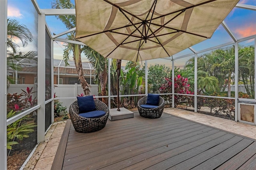
POLYGON ((95 103, 93 96, 76 97, 78 102, 79 113, 95 111, 95 103))

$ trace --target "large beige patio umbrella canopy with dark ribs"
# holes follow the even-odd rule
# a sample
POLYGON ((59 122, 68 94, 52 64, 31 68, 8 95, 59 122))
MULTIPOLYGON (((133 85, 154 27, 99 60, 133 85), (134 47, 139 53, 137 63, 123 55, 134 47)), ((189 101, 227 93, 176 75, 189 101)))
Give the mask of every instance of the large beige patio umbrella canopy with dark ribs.
POLYGON ((239 0, 75 0, 76 38, 104 57, 144 61, 211 38, 239 0))

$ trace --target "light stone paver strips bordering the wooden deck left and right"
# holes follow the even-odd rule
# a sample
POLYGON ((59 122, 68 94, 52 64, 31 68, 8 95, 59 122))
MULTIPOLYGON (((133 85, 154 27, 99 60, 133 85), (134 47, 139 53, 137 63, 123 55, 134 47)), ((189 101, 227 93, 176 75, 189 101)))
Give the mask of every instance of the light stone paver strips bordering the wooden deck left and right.
MULTIPOLYGON (((164 109, 164 112, 174 116, 182 117, 184 119, 202 123, 204 125, 256 139, 256 126, 254 125, 248 125, 245 123, 235 122, 219 117, 212 117, 210 115, 194 113, 176 108, 166 108, 164 109)), ((53 125, 46 133, 45 142, 38 145, 34 154, 26 164, 24 170, 51 169, 65 125, 66 121, 53 123, 53 125)))

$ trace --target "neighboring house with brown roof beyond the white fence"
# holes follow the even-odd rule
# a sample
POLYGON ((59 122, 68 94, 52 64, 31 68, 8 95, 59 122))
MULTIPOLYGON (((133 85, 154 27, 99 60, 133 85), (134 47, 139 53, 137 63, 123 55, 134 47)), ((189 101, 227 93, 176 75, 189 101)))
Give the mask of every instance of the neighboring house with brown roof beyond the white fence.
MULTIPOLYGON (((21 62, 22 63, 22 62, 21 62)), ((65 67, 64 61, 54 59, 54 84, 80 84, 76 67, 73 61, 68 62, 70 65, 65 67), (58 82, 59 77, 59 82, 58 82)), ((91 63, 83 62, 84 77, 89 84, 94 84, 94 68, 91 63)), ((8 75, 15 80, 16 84, 34 84, 37 83, 37 65, 35 64, 20 64, 20 71, 8 69, 8 75)), ((46 78, 47 79, 47 78, 46 78)))

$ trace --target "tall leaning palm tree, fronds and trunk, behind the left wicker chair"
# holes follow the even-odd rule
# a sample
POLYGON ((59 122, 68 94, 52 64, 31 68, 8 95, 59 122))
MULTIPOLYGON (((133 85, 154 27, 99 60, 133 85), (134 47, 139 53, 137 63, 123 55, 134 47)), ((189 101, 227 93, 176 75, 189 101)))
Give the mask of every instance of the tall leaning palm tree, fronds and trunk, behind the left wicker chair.
MULTIPOLYGON (((54 0, 52 2, 52 8, 56 9, 74 9, 75 6, 70 2, 70 0, 54 0)), ((66 26, 66 28, 71 29, 76 27, 76 16, 74 15, 59 15, 56 16, 59 20, 63 22, 63 24, 66 26)), ((75 32, 71 32, 70 35, 67 35, 68 40, 77 41, 75 38, 75 32)), ((73 43, 67 43, 64 53, 63 53, 63 59, 65 61, 66 66, 68 65, 68 60, 70 53, 73 53, 73 59, 76 65, 76 71, 78 73, 78 79, 80 80, 80 83, 82 85, 82 88, 84 89, 85 95, 90 95, 90 85, 87 83, 87 81, 84 78, 84 71, 82 67, 82 60, 81 60, 81 53, 84 50, 84 45, 78 45, 73 43)))

